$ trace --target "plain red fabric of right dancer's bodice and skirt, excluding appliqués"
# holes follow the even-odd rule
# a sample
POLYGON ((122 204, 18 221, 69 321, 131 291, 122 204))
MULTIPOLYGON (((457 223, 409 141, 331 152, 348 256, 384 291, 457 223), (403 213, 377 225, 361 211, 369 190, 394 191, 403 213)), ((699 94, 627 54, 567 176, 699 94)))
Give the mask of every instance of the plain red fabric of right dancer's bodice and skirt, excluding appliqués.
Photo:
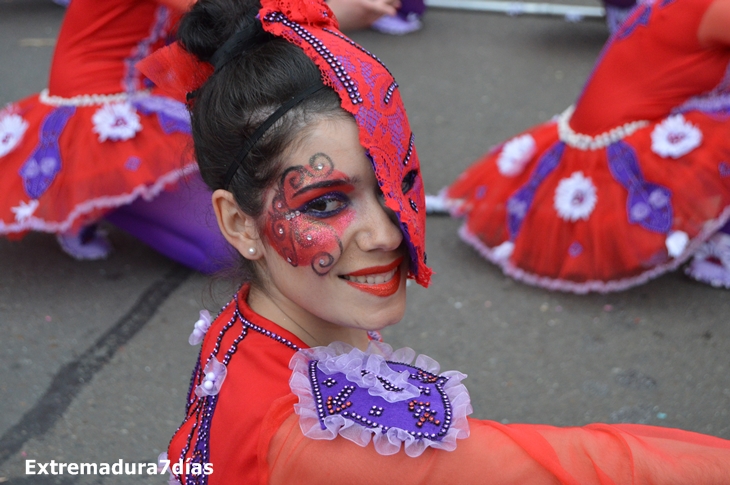
MULTIPOLYGON (((649 121, 622 141, 635 151, 644 180, 670 191, 669 231, 629 221, 628 191, 611 173, 607 149, 566 145, 556 168, 535 190, 512 240, 511 256, 498 261, 510 275, 552 289, 624 289, 682 262, 668 254, 669 233, 685 232, 694 248, 710 236, 708 227, 720 226, 730 216, 730 177, 723 168, 730 160, 727 114, 685 112, 684 118, 701 131, 701 144, 678 159, 652 150, 655 126, 673 109, 693 96, 727 89, 722 83, 730 81, 730 46, 703 49, 697 41, 698 24, 710 2, 656 1, 639 7, 604 48, 570 119, 575 132, 588 135, 649 121), (559 217, 554 200, 558 184, 576 172, 596 187, 597 203, 588 218, 568 221, 559 217)), ((467 239, 483 251, 510 240, 507 204, 559 142, 555 122, 525 133, 534 138, 536 150, 519 175, 500 173, 499 146, 447 189, 448 197, 465 201, 465 227, 476 241, 467 239)))

